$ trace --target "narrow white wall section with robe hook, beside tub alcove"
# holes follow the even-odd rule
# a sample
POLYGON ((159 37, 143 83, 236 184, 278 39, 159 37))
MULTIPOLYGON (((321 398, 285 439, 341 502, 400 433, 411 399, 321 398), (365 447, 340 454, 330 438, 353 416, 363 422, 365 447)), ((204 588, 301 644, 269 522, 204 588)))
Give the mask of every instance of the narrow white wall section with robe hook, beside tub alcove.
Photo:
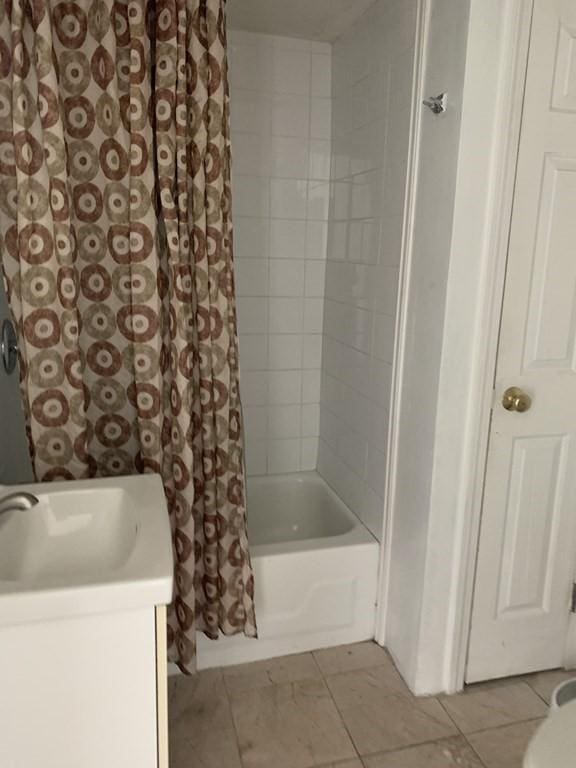
MULTIPOLYGON (((450 593, 459 585, 454 583, 456 571, 452 558, 459 523, 453 498, 442 508, 434 510, 433 505, 439 484, 445 489, 457 485, 459 457, 450 454, 449 464, 445 458, 449 444, 456 445, 457 433, 452 427, 462 419, 461 406, 467 395, 454 388, 458 355, 443 368, 446 340, 458 334, 458 328, 451 325, 446 314, 447 295, 453 263, 461 258, 471 271, 473 249, 479 245, 479 240, 471 235, 473 229, 468 221, 468 236, 458 243, 459 255, 454 251, 454 230, 463 223, 455 219, 458 174, 460 168, 474 158, 473 145, 462 143, 464 134, 461 135, 470 4, 429 0, 428 5, 422 95, 446 91, 448 110, 444 115, 434 116, 423 109, 421 115, 413 241, 406 278, 406 322, 401 340, 403 357, 399 371, 401 390, 385 622, 386 644, 402 675, 419 694, 448 687, 444 664, 451 651, 451 639, 440 625, 444 622, 445 629, 446 624, 453 621, 449 616, 450 593), (440 393, 442 375, 446 382, 452 377, 444 403, 440 393), (448 410, 444 410, 444 406, 448 410), (448 411, 453 420, 448 417, 448 411), (437 474, 439 463, 444 463, 442 477, 437 474)), ((489 30, 487 21, 485 18, 480 22, 485 30, 489 30)), ((495 25, 494 36, 497 34, 498 25, 495 25)), ((479 59, 474 64, 477 76, 489 83, 484 74, 487 64, 479 59)), ((478 122, 482 103, 476 101, 473 105, 469 113, 471 120, 478 122)), ((477 166, 476 160, 474 162, 477 166)), ((485 157, 480 163, 488 165, 485 157)), ((481 166, 476 170, 480 171, 481 166)), ((478 173, 477 184, 482 180, 482 173, 478 173)), ((474 199, 474 184, 464 194, 474 199)), ((480 203, 480 186, 477 194, 480 203)), ((477 211, 475 222, 481 221, 481 211, 477 211)), ((461 306, 460 311, 466 310, 461 306)), ((461 359, 465 352, 465 347, 460 346, 461 359)), ((461 446, 457 450, 461 450, 461 446)))

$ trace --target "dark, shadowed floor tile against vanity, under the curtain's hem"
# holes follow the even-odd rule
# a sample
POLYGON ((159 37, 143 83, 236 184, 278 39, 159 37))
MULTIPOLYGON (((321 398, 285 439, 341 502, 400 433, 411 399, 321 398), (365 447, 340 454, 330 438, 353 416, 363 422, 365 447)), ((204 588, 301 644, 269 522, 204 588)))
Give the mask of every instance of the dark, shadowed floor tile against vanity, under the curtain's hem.
POLYGON ((168 723, 172 744, 197 740, 200 734, 233 730, 230 702, 222 672, 207 670, 168 681, 168 723))

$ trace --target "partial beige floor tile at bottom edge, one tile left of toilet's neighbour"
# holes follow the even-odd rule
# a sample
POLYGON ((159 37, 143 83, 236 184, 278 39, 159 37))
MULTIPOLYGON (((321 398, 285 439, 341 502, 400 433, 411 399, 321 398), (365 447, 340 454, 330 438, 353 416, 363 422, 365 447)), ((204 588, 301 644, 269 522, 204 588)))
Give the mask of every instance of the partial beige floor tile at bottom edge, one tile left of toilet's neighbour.
POLYGON ((366 768, 483 768, 463 736, 364 758, 366 768))

